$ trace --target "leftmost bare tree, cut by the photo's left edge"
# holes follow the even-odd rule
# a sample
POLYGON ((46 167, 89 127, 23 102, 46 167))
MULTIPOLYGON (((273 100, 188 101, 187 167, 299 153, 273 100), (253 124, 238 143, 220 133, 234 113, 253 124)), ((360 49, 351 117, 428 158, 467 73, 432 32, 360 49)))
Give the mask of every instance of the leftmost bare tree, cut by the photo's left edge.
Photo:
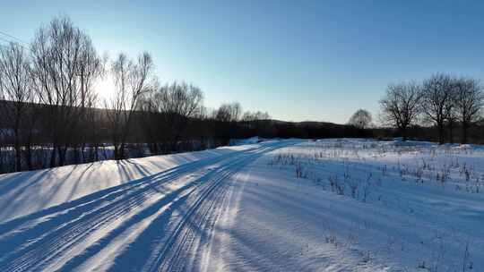
POLYGON ((29 57, 23 47, 16 43, 0 47, 0 92, 8 100, 2 103, 2 114, 13 131, 16 171, 22 171, 22 141, 26 136, 23 132, 28 130, 26 121, 31 117, 31 87, 29 57))

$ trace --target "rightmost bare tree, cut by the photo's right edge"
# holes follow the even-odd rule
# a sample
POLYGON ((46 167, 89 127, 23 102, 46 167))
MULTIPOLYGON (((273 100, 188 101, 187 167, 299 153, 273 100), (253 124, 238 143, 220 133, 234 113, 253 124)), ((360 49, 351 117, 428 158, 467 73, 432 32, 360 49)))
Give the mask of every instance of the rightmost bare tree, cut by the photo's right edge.
POLYGON ((461 78, 454 83, 454 111, 462 124, 462 143, 467 143, 468 130, 472 122, 480 117, 484 106, 484 93, 479 81, 461 78))

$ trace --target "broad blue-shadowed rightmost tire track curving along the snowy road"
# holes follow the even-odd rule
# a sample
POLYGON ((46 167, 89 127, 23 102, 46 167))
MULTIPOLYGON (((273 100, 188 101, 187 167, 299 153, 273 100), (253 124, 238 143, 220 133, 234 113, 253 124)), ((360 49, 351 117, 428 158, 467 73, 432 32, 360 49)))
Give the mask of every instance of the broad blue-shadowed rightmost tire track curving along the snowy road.
MULTIPOLYGON (((271 149, 259 149, 253 153, 255 156, 261 156, 262 153, 270 151, 271 149)), ((212 173, 212 176, 207 176, 206 187, 197 188, 194 194, 188 196, 189 200, 183 202, 183 205, 178 207, 173 214, 162 214, 151 222, 151 224, 143 230, 143 234, 137 237, 136 241, 126 247, 125 252, 118 255, 113 261, 114 266, 111 271, 156 271, 161 266, 163 270, 183 270, 186 267, 191 267, 194 259, 198 259, 198 255, 193 249, 199 249, 200 242, 207 242, 207 234, 211 233, 211 225, 206 225, 206 218, 216 214, 214 211, 218 200, 212 199, 213 195, 224 195, 220 193, 223 191, 224 182, 248 162, 254 156, 241 157, 238 160, 232 161, 231 165, 223 165, 212 173), (212 203, 212 205, 207 204, 212 203), (196 225, 196 227, 195 227, 196 225), (187 227, 191 229, 188 230, 187 227), (199 230, 199 231, 194 231, 199 230), (202 230, 203 232, 201 232, 202 230), (147 251, 147 248, 149 250, 147 251), (146 254, 145 254, 146 252, 146 254), (146 256, 149 256, 146 258, 146 256), (139 258, 138 258, 139 257, 139 258), (181 261, 181 262, 180 262, 181 261), (179 265, 185 264, 187 265, 179 265)), ((211 217, 212 218, 212 217, 211 217)), ((214 218, 216 219, 216 218, 214 218)), ((213 225, 213 224, 212 224, 213 225)))

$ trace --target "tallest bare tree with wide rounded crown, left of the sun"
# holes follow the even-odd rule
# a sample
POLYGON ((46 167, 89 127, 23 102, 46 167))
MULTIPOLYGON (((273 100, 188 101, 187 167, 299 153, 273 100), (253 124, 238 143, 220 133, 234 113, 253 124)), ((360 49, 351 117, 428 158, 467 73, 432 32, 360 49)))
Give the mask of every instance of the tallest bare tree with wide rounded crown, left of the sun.
POLYGON ((34 86, 40 103, 48 106, 46 128, 53 148, 50 166, 56 166, 56 151, 58 165, 64 165, 67 146, 73 140, 79 119, 76 109, 85 95, 83 69, 91 65, 83 56, 91 48, 91 38, 67 17, 41 27, 31 44, 34 86))

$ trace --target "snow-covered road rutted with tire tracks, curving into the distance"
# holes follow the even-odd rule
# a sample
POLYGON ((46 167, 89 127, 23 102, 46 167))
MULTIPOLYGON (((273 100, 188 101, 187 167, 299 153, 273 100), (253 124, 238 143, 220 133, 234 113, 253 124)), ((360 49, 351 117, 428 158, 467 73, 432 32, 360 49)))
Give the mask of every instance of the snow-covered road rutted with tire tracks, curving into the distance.
POLYGON ((197 270, 231 177, 293 143, 201 159, 5 222, 0 270, 197 270))

